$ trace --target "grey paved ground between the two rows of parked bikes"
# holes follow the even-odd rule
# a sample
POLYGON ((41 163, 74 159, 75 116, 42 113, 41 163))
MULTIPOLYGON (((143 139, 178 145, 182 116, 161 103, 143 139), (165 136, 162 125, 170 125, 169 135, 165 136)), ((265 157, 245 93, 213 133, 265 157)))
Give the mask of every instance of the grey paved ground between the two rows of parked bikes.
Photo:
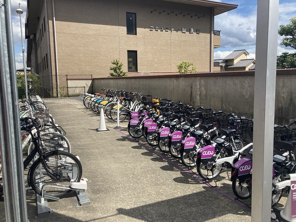
MULTIPOLYGON (((230 171, 208 184, 195 168, 150 147, 144 138, 128 135, 128 121, 105 117, 109 132, 96 132, 99 115, 76 98, 44 99, 55 123, 67 133, 73 154, 80 157, 90 205, 75 207, 74 192, 48 200, 53 213, 37 215, 33 191, 26 193, 28 218, 33 221, 251 221, 251 199, 236 200, 230 171)), ((254 197, 253 197, 254 198, 254 197)), ((283 199, 283 198, 282 198, 283 199)), ((278 207, 282 207, 280 203, 278 207)), ((0 221, 5 220, 0 202, 0 221)))

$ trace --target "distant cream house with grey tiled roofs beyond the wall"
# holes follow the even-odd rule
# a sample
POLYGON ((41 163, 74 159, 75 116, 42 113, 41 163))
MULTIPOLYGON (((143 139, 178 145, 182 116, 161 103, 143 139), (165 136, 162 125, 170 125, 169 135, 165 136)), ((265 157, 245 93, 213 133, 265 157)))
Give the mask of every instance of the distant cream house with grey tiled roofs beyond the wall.
POLYGON ((248 71, 254 66, 255 59, 247 59, 245 50, 235 50, 223 59, 214 59, 214 72, 248 71))

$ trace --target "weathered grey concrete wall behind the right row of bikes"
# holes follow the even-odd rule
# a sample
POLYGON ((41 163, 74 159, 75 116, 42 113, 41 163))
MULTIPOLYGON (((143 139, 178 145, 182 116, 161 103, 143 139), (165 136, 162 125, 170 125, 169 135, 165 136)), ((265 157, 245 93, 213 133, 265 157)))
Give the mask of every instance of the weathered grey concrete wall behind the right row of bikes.
MULTIPOLYGON (((296 119, 296 69, 277 70, 275 123, 296 119)), ((255 71, 94 78, 94 92, 125 89, 253 118, 255 71)), ((264 102, 264 101, 262 101, 264 102)))

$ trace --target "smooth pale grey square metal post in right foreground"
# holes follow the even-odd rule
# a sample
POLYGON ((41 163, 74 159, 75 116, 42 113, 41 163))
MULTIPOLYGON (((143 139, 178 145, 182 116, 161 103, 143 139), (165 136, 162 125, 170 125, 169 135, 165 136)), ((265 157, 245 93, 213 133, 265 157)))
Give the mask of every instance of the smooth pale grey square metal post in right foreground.
POLYGON ((258 0, 252 222, 270 222, 279 0, 258 0))

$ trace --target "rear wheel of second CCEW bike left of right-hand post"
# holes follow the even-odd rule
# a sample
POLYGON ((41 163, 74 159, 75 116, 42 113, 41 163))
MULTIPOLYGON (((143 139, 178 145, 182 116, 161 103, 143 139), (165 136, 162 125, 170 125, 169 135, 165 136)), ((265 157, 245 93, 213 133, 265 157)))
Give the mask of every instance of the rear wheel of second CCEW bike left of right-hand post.
MULTIPOLYGON (((223 153, 218 154, 218 159, 223 158, 223 153)), ((217 154, 213 156, 213 159, 217 158, 217 154)), ((216 178, 222 171, 223 164, 218 164, 215 167, 213 167, 213 173, 211 171, 212 164, 208 162, 207 164, 200 163, 200 166, 197 167, 197 172, 200 175, 201 178, 205 180, 210 180, 213 178, 216 178)))

